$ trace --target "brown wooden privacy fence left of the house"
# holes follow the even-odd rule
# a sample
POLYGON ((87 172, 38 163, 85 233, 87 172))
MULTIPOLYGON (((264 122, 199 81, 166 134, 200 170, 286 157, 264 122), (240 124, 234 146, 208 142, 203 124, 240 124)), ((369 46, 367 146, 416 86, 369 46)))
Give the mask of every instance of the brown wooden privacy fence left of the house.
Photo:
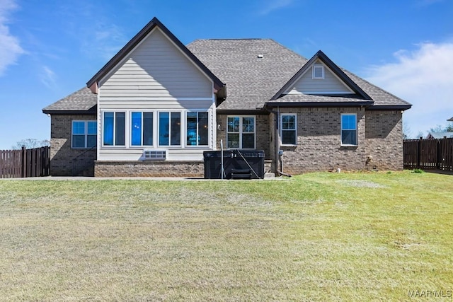
POLYGON ((33 178, 50 175, 50 147, 0 150, 0 178, 33 178))

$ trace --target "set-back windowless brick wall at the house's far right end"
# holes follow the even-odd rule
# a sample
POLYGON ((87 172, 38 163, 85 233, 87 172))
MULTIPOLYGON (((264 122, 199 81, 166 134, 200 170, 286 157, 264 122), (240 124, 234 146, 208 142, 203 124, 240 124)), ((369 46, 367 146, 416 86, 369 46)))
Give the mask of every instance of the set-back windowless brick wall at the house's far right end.
POLYGON ((403 170, 403 124, 399 110, 365 113, 366 168, 403 170))

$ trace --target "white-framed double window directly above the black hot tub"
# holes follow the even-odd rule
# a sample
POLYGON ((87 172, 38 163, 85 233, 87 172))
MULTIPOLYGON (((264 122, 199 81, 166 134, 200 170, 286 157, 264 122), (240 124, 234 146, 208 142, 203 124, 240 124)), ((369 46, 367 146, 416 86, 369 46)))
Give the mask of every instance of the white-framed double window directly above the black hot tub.
POLYGON ((255 117, 227 118, 227 148, 255 149, 255 117))

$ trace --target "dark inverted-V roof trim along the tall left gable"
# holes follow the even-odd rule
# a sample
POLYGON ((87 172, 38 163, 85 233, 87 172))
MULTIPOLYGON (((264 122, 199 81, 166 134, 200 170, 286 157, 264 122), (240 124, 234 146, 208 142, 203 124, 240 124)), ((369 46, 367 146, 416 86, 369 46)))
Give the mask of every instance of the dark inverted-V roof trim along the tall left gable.
POLYGON ((86 83, 86 86, 90 88, 93 93, 96 93, 99 81, 101 81, 105 76, 110 74, 110 72, 115 68, 115 66, 124 61, 125 58, 127 57, 127 54, 130 54, 130 52, 132 52, 135 49, 135 47, 137 47, 137 45, 139 45, 142 42, 142 40, 145 37, 147 37, 149 33, 151 33, 151 31, 153 31, 156 27, 159 28, 161 32, 164 33, 164 35, 166 35, 166 37, 168 37, 168 39, 171 40, 171 42, 173 42, 173 44, 176 47, 178 47, 178 49, 181 52, 183 52, 183 54, 185 54, 185 56, 188 57, 188 59, 190 59, 193 62, 193 64, 195 64, 195 66, 197 66, 204 74, 206 74, 207 77, 209 77, 212 80, 212 82, 214 83, 214 89, 217 91, 219 97, 221 98, 226 97, 225 84, 222 83, 222 81, 220 81, 217 78, 217 76, 215 76, 212 73, 212 71, 210 71, 210 69, 207 69, 207 67, 204 64, 202 64, 202 62, 200 62, 200 60, 197 57, 195 57, 195 55, 192 52, 190 52, 190 50, 188 50, 188 48, 185 47, 185 45, 183 45, 183 43, 180 42, 180 40, 178 40, 178 38, 175 35, 173 35, 173 33, 171 33, 171 31, 168 30, 168 28, 166 28, 165 25, 162 24, 156 17, 154 17, 144 28, 142 28, 142 30, 140 30, 139 33, 137 33, 137 35, 132 37, 132 40, 127 42, 127 44, 124 47, 122 47, 122 49, 119 52, 117 52, 117 54, 115 54, 115 56, 113 56, 113 58, 110 59, 110 61, 107 62, 107 64, 105 64, 93 76, 93 78, 90 79, 90 81, 86 83))

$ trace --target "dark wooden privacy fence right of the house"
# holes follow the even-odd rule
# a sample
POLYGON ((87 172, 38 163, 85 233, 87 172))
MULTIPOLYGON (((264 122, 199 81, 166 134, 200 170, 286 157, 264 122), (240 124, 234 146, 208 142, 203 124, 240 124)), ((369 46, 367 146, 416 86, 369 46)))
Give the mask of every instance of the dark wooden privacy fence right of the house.
POLYGON ((453 171, 453 138, 407 139, 403 150, 404 168, 453 171))

